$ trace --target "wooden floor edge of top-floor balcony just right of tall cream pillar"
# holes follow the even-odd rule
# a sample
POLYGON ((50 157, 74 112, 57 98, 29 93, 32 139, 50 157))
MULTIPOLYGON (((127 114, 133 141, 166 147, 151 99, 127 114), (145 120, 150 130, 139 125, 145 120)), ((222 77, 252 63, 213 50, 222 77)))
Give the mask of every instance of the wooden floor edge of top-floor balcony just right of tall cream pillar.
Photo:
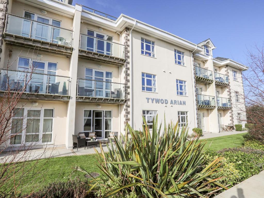
POLYGON ((97 52, 87 51, 82 49, 79 49, 79 58, 96 61, 103 64, 111 64, 115 66, 121 66, 125 64, 125 59, 123 58, 117 58, 115 56, 100 54, 97 52))

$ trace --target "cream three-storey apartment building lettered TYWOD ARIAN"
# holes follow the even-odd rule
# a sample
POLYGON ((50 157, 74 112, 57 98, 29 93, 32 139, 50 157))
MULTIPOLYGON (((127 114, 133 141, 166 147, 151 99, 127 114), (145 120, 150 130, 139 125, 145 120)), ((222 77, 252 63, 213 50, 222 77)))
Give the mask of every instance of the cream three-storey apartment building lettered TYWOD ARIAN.
POLYGON ((179 121, 219 133, 244 114, 245 65, 213 58, 210 39, 194 44, 121 14, 118 18, 70 0, 8 0, 2 9, 0 97, 32 76, 9 133, 12 146, 72 148, 72 135, 125 133, 128 122, 150 130, 179 121), (10 64, 12 63, 12 64, 10 64), (7 65, 8 74, 7 74, 7 65), (239 108, 236 108, 235 105, 239 108))

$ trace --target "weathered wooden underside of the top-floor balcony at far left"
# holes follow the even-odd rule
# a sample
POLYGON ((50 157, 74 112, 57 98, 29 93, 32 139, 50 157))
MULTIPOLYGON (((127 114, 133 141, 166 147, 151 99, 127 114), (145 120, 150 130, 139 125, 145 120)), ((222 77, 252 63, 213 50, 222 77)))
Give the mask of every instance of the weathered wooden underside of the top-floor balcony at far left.
POLYGON ((9 34, 6 32, 3 33, 3 39, 9 45, 17 46, 19 48, 24 48, 28 50, 43 51, 45 53, 63 56, 71 56, 72 54, 72 47, 70 46, 49 43, 47 41, 41 41, 24 36, 9 34))

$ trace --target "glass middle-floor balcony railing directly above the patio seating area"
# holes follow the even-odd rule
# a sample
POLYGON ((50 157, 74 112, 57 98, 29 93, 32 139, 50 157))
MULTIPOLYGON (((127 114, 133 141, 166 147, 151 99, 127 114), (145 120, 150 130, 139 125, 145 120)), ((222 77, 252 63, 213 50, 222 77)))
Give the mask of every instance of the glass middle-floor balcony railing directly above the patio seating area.
POLYGON ((125 99, 125 84, 77 78, 77 96, 125 99))

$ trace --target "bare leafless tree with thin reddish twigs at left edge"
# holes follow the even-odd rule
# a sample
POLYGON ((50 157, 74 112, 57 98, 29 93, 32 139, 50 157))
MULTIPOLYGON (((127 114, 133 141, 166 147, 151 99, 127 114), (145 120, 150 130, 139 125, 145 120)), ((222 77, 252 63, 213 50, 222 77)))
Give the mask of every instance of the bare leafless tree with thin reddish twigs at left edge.
MULTIPOLYGON (((40 154, 32 150, 37 141, 26 143, 27 141, 23 140, 22 131, 34 120, 25 125, 23 124, 24 115, 21 114, 22 116, 14 119, 36 94, 32 93, 25 97, 25 92, 29 92, 36 65, 31 61, 28 63, 28 70, 14 71, 10 68, 18 60, 18 56, 10 62, 11 56, 12 51, 9 51, 7 65, 5 69, 1 69, 0 73, 0 194, 3 197, 17 197, 22 188, 26 188, 24 183, 34 182, 34 178, 37 177, 44 179, 43 170, 37 167, 44 166, 50 157, 50 155, 46 156, 46 147, 40 154), (42 166, 36 166, 41 158, 46 160, 41 161, 42 166), (35 161, 32 163, 28 161, 29 159, 35 161)), ((35 64, 38 62, 34 58, 32 60, 35 64)), ((39 139, 39 137, 36 138, 39 139)), ((53 150, 53 148, 50 149, 53 150)))

